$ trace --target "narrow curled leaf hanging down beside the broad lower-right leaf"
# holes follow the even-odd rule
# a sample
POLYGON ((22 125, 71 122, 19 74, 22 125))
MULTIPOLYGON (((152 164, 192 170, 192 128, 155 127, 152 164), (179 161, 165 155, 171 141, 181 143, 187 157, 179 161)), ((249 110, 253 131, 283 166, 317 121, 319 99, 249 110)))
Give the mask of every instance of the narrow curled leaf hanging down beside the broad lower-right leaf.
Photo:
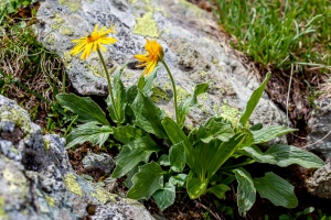
POLYGON ((238 182, 237 205, 241 216, 245 216, 256 199, 256 188, 248 172, 244 168, 233 170, 238 182))

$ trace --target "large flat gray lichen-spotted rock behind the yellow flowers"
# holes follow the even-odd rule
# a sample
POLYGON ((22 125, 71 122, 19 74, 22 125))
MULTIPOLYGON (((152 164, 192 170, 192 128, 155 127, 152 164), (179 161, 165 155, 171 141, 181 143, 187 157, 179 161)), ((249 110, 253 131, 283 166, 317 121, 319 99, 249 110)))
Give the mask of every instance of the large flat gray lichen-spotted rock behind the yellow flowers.
MULTIPOLYGON (((192 94, 196 84, 209 82, 200 108, 189 116, 189 125, 221 113, 234 120, 259 82, 222 40, 218 26, 207 13, 185 0, 49 0, 38 11, 39 40, 63 57, 72 85, 81 95, 106 95, 107 80, 93 54, 86 62, 72 57, 72 40, 89 34, 95 24, 116 25, 118 40, 104 54, 108 67, 134 62, 143 52, 146 37, 158 38, 177 81, 180 100, 192 94)), ((129 65, 135 67, 135 65, 129 65)), ((160 65, 161 66, 161 65, 160 65)), ((127 69, 126 85, 135 84, 141 70, 127 69)), ((163 67, 158 72, 154 100, 173 114, 172 91, 163 67)), ((253 123, 285 124, 285 114, 264 96, 253 123)))

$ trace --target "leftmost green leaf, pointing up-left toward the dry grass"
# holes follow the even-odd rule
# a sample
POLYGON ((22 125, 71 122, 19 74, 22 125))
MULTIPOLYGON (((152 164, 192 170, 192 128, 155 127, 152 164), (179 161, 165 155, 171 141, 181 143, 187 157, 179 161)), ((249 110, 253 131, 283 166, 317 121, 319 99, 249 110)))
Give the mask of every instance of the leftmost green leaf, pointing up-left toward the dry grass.
POLYGON ((98 121, 102 124, 110 125, 105 112, 89 97, 78 97, 73 94, 58 94, 56 100, 63 108, 78 114, 86 122, 98 121))

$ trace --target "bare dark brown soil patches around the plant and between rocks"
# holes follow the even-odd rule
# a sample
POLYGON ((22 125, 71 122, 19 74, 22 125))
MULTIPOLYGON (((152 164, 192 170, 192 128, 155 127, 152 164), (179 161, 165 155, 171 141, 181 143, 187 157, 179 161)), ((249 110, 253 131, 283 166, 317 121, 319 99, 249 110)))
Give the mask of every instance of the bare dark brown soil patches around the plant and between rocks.
MULTIPOLYGON (((212 11, 213 6, 205 0, 191 0, 191 2, 201 7, 204 10, 212 11)), ((21 14, 26 16, 26 12, 20 11, 21 14)), ((19 14, 20 15, 20 14, 19 14)), ((21 16, 23 16, 21 15, 21 16)), ((221 32, 222 30, 220 30, 221 32)), ((224 34, 223 35, 228 35, 224 34)), ((309 90, 308 85, 312 87, 319 86, 322 81, 324 81, 323 76, 309 72, 309 69, 303 69, 302 72, 295 73, 292 75, 292 85, 291 92, 289 95, 289 100, 287 103, 288 96, 288 81, 290 79, 290 69, 280 70, 273 69, 273 67, 261 67, 259 64, 255 64, 253 61, 249 61, 249 57, 245 57, 247 61, 247 66, 253 66, 256 69, 256 73, 263 79, 268 70, 273 70, 271 79, 267 86, 267 94, 270 99, 284 111, 288 109, 288 117, 292 128, 299 129, 292 135, 288 136, 288 141, 290 144, 296 146, 303 146, 306 144, 307 136, 307 121, 310 117, 312 106, 308 102, 307 97, 310 96, 311 91, 309 90), (307 81, 308 84, 306 84, 307 81), (298 108, 299 107, 299 108, 298 108)), ((73 90, 73 88, 68 87, 68 91, 73 90)), ((32 96, 31 94, 24 90, 9 90, 8 98, 17 99, 23 107, 28 110, 32 110, 28 103, 33 100, 32 106, 39 106, 38 113, 34 117, 35 123, 40 124, 42 128, 46 127, 46 116, 50 113, 50 108, 45 107, 43 102, 41 102, 38 98, 32 96)), ((31 105, 31 103, 30 103, 31 105)), ((61 133, 60 130, 56 130, 61 133)), ((87 170, 82 165, 82 160, 88 152, 99 153, 106 152, 109 153, 113 157, 118 154, 118 151, 113 148, 100 148, 98 146, 93 146, 89 143, 83 144, 76 150, 68 150, 68 156, 74 169, 77 174, 86 174, 94 178, 94 182, 103 182, 108 176, 105 172, 100 169, 87 170)), ((157 205, 152 199, 148 201, 142 201, 146 208, 157 217, 163 217, 167 219, 249 219, 249 220, 259 220, 259 219, 279 219, 281 215, 290 215, 292 218, 289 219, 307 219, 308 216, 311 219, 320 219, 321 212, 331 216, 330 210, 330 200, 324 200, 320 198, 316 198, 309 195, 303 187, 305 179, 308 178, 312 170, 302 169, 298 166, 290 166, 288 168, 279 168, 276 166, 258 166, 258 165, 249 165, 247 170, 250 172, 253 177, 260 177, 265 172, 273 170, 277 175, 284 177, 285 179, 289 179, 292 185, 296 187, 296 195, 299 200, 299 207, 296 209, 289 210, 281 207, 275 207, 271 202, 260 197, 256 198, 256 202, 253 208, 248 211, 246 217, 241 217, 237 211, 236 205, 236 184, 233 183, 231 185, 232 190, 226 194, 225 200, 220 200, 213 195, 205 195, 196 200, 190 200, 185 191, 177 191, 177 199, 174 205, 166 209, 163 212, 160 212, 157 205), (296 215, 303 211, 303 209, 314 207, 314 211, 310 215, 303 215, 298 218, 295 218, 296 215)), ((124 185, 124 179, 118 180, 117 190, 121 194, 126 194, 128 190, 124 185)))

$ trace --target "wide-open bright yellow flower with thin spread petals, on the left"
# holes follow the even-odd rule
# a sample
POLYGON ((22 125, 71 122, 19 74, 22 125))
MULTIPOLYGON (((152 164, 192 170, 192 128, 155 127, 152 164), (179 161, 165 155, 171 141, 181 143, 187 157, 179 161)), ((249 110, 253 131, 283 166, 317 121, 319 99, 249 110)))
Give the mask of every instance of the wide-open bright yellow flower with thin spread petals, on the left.
POLYGON ((109 29, 103 26, 98 31, 98 25, 96 24, 92 34, 73 41, 74 43, 77 43, 77 45, 71 51, 70 54, 76 56, 83 52, 81 58, 86 59, 86 57, 90 55, 92 51, 96 52, 98 48, 100 48, 103 52, 106 52, 106 48, 103 46, 103 44, 115 44, 117 42, 116 38, 107 36, 109 33, 116 33, 114 26, 110 26, 109 29))

